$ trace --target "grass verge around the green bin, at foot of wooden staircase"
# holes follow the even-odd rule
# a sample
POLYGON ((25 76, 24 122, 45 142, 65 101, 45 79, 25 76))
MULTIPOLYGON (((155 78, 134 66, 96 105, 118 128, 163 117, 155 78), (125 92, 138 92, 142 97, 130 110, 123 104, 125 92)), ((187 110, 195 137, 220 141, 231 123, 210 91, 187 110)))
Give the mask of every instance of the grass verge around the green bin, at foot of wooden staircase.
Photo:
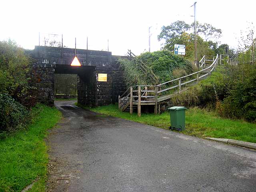
MULTIPOLYGON (((90 110, 159 128, 168 129, 170 126, 168 112, 161 115, 142 114, 141 117, 138 117, 136 113, 130 115, 128 112, 118 111, 117 105, 90 108, 90 110)), ((214 112, 207 112, 199 108, 186 110, 186 130, 182 133, 201 138, 229 138, 256 143, 256 124, 220 118, 214 112)))

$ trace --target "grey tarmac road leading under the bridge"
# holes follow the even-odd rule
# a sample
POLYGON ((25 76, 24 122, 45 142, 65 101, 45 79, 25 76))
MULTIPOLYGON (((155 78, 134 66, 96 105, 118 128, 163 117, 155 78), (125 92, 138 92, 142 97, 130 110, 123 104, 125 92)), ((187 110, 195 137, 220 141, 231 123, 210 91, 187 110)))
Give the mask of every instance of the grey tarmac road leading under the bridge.
POLYGON ((256 151, 55 102, 54 192, 256 192, 256 151))

